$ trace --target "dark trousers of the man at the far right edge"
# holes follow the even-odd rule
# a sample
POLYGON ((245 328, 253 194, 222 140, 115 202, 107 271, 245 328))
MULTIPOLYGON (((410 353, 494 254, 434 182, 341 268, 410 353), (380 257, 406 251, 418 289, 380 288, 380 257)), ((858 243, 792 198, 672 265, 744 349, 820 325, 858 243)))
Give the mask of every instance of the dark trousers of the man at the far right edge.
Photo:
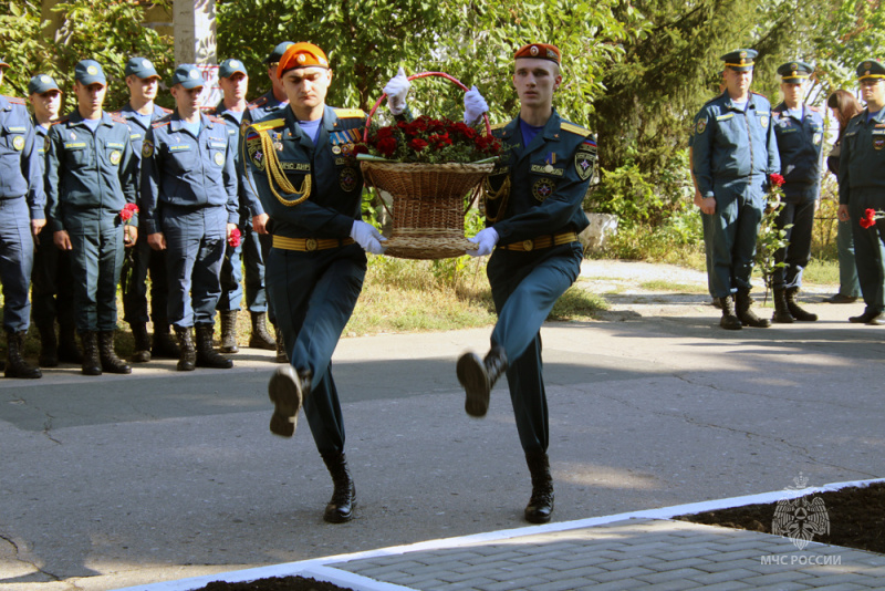
POLYGON ((885 209, 885 189, 852 188, 848 193, 848 215, 854 235, 854 261, 861 293, 868 311, 885 311, 885 219, 872 228, 861 228, 864 210, 885 209))

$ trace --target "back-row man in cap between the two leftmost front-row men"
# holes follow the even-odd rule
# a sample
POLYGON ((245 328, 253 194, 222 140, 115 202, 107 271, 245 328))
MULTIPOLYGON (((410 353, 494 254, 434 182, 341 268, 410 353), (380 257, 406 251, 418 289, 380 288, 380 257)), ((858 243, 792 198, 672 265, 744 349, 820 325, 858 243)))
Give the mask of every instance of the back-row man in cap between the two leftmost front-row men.
MULTIPOLYGON (((59 120, 62 92, 46 74, 38 74, 28 83, 28 100, 33 108, 33 125, 40 153, 41 177, 46 167, 46 138, 52 124, 59 120)), ((83 363, 76 343, 74 324, 74 277, 71 274, 71 253, 59 250, 52 229, 46 226, 38 237, 34 268, 31 272, 31 319, 40 331, 40 365, 56 367, 59 361, 83 363), (55 336, 55 321, 59 336, 55 336)))

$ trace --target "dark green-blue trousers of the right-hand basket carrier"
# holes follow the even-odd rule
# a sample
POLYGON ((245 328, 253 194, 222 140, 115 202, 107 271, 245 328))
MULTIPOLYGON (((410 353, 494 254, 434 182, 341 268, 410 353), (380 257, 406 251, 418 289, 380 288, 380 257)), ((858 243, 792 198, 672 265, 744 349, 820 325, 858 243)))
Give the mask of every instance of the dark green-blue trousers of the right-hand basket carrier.
POLYGON ((581 272, 579 242, 531 252, 497 249, 486 273, 498 312, 492 346, 508 359, 507 383, 520 443, 527 453, 550 443, 541 362, 541 325, 581 272))

